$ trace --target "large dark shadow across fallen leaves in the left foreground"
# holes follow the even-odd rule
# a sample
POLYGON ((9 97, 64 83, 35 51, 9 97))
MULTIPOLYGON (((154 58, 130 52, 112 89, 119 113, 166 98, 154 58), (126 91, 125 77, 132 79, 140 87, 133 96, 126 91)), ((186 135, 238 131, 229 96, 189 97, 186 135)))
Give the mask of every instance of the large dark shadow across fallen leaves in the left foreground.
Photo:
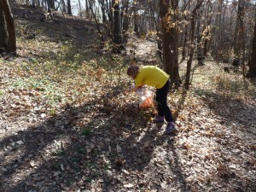
POLYGON ((150 114, 139 111, 137 103, 112 102, 113 97, 121 100, 121 92, 113 88, 91 102, 4 137, 0 142, 1 191, 116 191, 127 183, 132 183, 128 188, 133 190, 149 186, 158 191, 184 190, 172 137, 158 135, 161 127, 148 124, 150 114), (96 107, 99 104, 102 107, 96 107), (162 145, 168 167, 152 161, 162 145), (173 176, 176 182, 160 189, 173 176))

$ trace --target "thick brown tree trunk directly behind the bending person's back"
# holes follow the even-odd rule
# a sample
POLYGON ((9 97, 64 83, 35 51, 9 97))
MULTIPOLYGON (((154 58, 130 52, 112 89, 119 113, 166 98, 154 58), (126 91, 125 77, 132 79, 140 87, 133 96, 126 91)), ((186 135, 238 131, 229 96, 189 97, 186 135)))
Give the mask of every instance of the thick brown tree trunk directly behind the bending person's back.
POLYGON ((177 4, 177 0, 160 0, 164 69, 166 73, 170 74, 172 83, 179 86, 176 27, 177 4))

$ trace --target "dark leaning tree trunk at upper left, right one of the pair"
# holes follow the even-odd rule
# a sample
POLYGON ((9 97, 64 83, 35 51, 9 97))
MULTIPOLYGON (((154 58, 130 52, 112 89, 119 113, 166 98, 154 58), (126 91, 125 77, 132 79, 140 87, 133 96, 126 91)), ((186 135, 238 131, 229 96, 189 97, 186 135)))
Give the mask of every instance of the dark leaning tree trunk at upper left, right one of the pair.
POLYGON ((16 33, 15 33, 15 21, 9 7, 8 0, 0 0, 0 5, 3 9, 3 14, 6 21, 6 27, 8 31, 8 44, 7 51, 16 54, 16 33))

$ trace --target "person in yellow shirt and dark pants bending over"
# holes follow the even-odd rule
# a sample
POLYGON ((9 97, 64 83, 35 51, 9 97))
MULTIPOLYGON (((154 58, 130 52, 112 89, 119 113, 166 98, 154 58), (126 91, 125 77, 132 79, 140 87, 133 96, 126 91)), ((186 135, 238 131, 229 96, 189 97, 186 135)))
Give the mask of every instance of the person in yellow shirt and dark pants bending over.
POLYGON ((134 79, 135 87, 133 91, 137 91, 144 84, 148 84, 156 88, 156 102, 158 104, 158 115, 154 118, 155 123, 167 122, 165 134, 169 134, 175 130, 172 112, 167 105, 167 95, 170 87, 170 76, 155 66, 137 67, 131 66, 127 69, 127 74, 134 79))

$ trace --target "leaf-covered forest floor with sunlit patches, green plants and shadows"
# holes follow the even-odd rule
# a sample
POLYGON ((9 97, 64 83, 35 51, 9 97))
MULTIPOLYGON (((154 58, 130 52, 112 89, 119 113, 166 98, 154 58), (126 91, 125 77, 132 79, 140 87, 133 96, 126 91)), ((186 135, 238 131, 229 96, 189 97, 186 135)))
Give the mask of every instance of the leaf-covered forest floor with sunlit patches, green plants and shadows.
POLYGON ((18 55, 0 57, 0 191, 256 191, 255 79, 210 56, 194 63, 190 90, 168 96, 177 131, 164 135, 125 73, 134 52, 159 64, 154 43, 131 36, 114 55, 97 48, 93 21, 12 9, 18 55))

